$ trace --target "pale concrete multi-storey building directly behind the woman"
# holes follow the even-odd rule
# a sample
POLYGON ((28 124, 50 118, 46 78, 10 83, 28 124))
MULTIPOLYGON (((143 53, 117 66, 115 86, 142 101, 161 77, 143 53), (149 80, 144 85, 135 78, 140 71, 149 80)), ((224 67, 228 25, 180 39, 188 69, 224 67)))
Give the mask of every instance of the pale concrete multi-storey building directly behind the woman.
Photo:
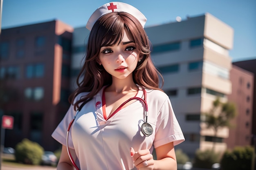
MULTIPOLYGON (((145 28, 153 44, 152 59, 164 76, 164 91, 171 98, 186 141, 177 146, 193 156, 195 150, 211 148, 213 131, 204 128, 200 117, 220 96, 227 101, 231 93, 229 71, 233 29, 209 13, 145 28)), ((89 31, 74 29, 72 72, 81 68, 89 31)), ((72 78, 72 87, 74 85, 72 78)), ((227 148, 227 128, 218 132, 218 150, 227 148)))

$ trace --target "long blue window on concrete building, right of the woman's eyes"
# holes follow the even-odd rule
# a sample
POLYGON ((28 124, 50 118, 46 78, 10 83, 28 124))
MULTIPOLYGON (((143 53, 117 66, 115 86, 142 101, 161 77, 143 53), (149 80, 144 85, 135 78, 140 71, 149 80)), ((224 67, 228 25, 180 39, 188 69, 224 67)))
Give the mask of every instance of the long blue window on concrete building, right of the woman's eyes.
POLYGON ((171 42, 168 44, 153 45, 152 53, 162 53, 166 51, 175 51, 180 49, 180 42, 171 42))

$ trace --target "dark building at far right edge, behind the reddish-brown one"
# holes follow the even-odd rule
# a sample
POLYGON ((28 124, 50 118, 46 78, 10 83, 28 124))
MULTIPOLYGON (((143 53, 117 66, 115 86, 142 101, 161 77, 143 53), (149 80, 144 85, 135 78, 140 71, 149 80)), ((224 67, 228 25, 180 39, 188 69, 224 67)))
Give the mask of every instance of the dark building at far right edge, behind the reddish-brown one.
MULTIPOLYGON (((238 66, 240 68, 243 68, 244 70, 247 70, 251 73, 256 75, 256 59, 254 60, 245 60, 245 61, 239 61, 239 62, 234 62, 233 63, 235 66, 238 66)), ((250 98, 249 100, 252 100, 253 106, 252 110, 249 110, 252 113, 252 135, 254 135, 255 141, 255 146, 256 146, 256 78, 254 77, 254 86, 251 85, 251 88, 253 88, 253 97, 250 98)))

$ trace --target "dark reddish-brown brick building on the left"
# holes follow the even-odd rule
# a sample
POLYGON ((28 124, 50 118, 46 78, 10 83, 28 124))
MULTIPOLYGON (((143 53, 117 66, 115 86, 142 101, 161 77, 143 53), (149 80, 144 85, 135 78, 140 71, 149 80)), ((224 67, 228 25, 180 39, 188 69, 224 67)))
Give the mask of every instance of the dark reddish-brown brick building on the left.
POLYGON ((51 134, 69 107, 72 32, 58 20, 2 29, 0 110, 14 117, 5 146, 28 138, 45 150, 57 147, 51 134))

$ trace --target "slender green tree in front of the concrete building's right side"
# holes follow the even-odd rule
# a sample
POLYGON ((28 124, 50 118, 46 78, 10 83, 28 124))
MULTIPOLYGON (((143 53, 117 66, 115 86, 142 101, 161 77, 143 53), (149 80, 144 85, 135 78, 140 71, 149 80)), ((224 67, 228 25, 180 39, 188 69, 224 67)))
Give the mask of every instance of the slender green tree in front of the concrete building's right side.
POLYGON ((230 121, 235 117, 236 106, 234 103, 222 103, 220 98, 213 101, 213 108, 211 108, 209 113, 205 113, 204 121, 207 128, 212 128, 214 131, 212 150, 215 149, 218 130, 223 127, 232 127, 230 121))

